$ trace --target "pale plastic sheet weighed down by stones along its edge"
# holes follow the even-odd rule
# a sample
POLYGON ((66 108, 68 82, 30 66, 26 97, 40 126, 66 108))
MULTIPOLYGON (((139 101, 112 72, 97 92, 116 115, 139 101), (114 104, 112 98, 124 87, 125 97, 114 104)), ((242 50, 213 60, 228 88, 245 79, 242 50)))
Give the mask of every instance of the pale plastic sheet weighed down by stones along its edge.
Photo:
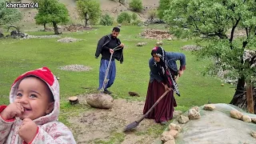
MULTIPOLYGON (((250 118, 256 118, 256 114, 248 114, 229 104, 213 105, 216 107, 213 111, 202 110, 203 106, 200 106, 201 118, 186 124, 179 124, 178 118, 174 119, 173 123, 182 126, 175 138, 176 144, 256 144, 256 138, 251 136, 251 132, 256 131, 256 124, 231 118, 230 110, 238 110, 250 118)), ((183 115, 187 116, 187 113, 183 115)))

